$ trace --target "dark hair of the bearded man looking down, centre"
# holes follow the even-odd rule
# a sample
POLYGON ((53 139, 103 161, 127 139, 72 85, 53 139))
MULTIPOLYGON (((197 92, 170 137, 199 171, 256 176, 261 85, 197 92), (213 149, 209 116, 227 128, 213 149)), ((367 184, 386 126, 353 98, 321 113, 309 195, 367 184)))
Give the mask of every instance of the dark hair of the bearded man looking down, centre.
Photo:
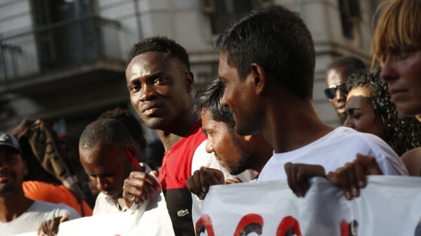
POLYGON ((234 130, 234 119, 228 107, 221 106, 220 101, 224 93, 224 85, 218 78, 209 81, 198 91, 194 99, 196 111, 208 112, 215 121, 226 123, 230 131, 234 130))

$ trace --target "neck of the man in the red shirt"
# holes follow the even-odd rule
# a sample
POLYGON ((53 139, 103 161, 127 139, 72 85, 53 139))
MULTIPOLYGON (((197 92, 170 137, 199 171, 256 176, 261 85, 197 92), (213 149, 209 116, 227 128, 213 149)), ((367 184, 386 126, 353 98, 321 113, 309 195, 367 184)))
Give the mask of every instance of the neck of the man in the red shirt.
POLYGON ((176 118, 166 130, 157 130, 165 152, 168 152, 181 138, 186 137, 190 129, 199 119, 193 109, 187 109, 181 116, 176 118))

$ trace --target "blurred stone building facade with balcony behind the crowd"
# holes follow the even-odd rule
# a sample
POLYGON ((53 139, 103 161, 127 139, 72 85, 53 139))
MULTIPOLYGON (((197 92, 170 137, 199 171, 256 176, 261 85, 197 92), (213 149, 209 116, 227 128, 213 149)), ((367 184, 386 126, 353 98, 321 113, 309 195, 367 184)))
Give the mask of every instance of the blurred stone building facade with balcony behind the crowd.
POLYGON ((316 46, 316 111, 340 125, 323 94, 326 68, 342 55, 369 64, 379 1, 0 0, 0 130, 42 118, 58 132, 78 134, 105 110, 132 109, 124 60, 146 37, 185 46, 199 89, 217 74, 218 35, 245 12, 270 4, 300 12, 308 25, 316 46))

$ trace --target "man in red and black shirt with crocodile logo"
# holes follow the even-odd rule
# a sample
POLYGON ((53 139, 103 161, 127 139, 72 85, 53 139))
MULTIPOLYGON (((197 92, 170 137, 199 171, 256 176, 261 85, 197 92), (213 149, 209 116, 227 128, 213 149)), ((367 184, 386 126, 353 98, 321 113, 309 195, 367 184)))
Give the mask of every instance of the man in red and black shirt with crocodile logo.
MULTIPOLYGON (((193 109, 194 77, 186 49, 164 37, 143 39, 132 47, 126 65, 132 106, 146 126, 157 130, 165 149, 159 183, 174 233, 194 235, 186 180, 201 166, 223 167, 205 151, 202 120, 193 109)), ((143 202, 151 188, 160 191, 159 183, 148 173, 132 172, 123 187, 126 205, 143 202)))

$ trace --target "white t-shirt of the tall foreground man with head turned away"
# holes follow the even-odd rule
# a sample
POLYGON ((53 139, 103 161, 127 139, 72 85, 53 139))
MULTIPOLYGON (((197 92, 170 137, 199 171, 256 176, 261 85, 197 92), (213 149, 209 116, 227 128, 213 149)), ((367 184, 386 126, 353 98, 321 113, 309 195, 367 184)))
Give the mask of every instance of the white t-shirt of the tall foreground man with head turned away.
POLYGON ((381 138, 341 126, 302 148, 274 153, 258 180, 286 179, 287 162, 321 165, 328 173, 353 161, 357 153, 374 157, 385 175, 408 175, 401 159, 381 138))

